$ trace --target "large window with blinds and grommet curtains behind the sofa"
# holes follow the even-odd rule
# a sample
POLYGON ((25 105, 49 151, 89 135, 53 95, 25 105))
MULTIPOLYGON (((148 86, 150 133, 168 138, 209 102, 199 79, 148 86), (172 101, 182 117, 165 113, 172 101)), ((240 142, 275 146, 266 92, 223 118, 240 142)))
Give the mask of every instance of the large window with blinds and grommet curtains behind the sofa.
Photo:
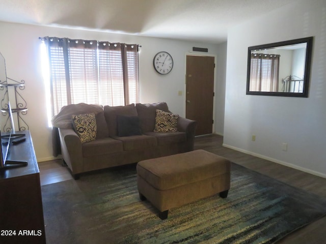
POLYGON ((138 45, 46 37, 51 116, 68 104, 139 102, 138 45))

